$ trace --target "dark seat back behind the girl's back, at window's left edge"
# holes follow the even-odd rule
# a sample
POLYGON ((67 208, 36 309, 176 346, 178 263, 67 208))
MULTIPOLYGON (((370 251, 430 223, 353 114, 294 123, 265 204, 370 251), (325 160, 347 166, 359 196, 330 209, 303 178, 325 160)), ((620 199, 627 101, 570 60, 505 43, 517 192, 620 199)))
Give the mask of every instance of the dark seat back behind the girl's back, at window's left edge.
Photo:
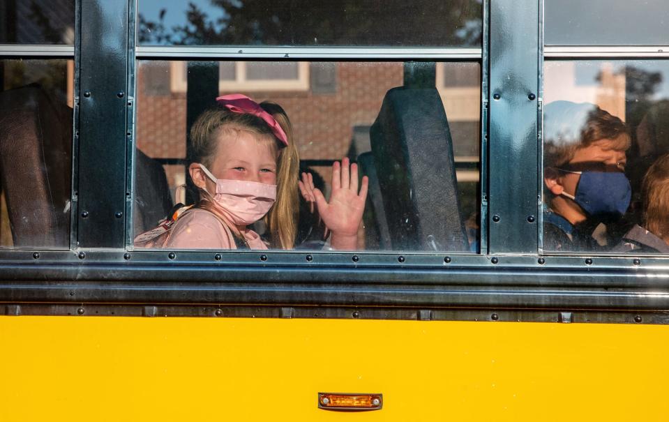
POLYGON ((157 160, 146 156, 140 149, 135 153, 135 235, 153 229, 170 213, 172 195, 167 184, 165 169, 157 160))

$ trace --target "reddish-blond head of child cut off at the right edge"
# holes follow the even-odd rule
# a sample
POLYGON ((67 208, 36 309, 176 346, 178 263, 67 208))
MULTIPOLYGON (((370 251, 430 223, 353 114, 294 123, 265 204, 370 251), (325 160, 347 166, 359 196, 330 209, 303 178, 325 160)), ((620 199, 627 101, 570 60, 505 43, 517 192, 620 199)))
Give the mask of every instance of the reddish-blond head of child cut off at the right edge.
POLYGON ((655 160, 648 169, 642 195, 645 229, 669 243, 669 154, 655 160))

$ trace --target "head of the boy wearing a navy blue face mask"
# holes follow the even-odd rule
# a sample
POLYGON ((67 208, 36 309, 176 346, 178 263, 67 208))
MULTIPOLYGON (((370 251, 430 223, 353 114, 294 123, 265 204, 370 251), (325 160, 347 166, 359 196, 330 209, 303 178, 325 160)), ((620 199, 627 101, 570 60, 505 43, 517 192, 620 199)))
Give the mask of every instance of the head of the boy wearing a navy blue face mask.
POLYGON ((594 104, 556 101, 544 110, 544 183, 555 213, 576 224, 621 216, 629 206, 625 123, 594 104))

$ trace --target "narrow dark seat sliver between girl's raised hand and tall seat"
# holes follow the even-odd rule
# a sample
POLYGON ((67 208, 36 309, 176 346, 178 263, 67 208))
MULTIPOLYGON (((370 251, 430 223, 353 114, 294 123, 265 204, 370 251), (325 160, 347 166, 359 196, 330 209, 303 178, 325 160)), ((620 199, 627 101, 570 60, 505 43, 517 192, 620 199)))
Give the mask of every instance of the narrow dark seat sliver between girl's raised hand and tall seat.
POLYGON ((367 191, 367 204, 363 213, 365 225, 365 247, 366 249, 389 250, 392 248, 386 210, 383 205, 379 178, 376 174, 374 156, 371 151, 361 153, 358 156, 360 176, 366 175, 369 179, 367 191))

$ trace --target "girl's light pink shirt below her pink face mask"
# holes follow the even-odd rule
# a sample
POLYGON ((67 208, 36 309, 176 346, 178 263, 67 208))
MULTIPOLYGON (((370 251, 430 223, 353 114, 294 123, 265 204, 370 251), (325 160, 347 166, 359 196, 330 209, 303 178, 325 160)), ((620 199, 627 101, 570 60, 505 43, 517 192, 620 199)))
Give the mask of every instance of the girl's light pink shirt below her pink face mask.
MULTIPOLYGON (((267 249, 253 230, 243 233, 250 249, 267 249)), ((165 248, 170 249, 236 249, 230 229, 204 209, 190 209, 174 223, 165 248)))

